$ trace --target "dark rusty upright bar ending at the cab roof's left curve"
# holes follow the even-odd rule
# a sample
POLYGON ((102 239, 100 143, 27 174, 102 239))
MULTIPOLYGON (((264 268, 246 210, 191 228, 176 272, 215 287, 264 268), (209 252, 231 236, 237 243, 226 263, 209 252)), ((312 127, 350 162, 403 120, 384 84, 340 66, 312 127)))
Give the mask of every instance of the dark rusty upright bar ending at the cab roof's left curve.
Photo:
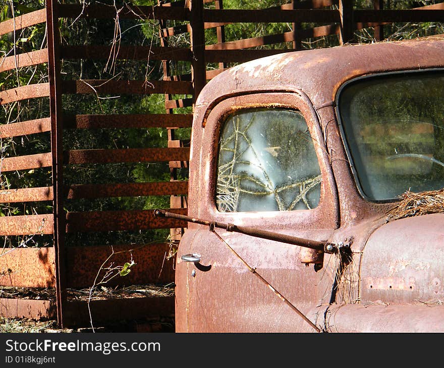
POLYGON ((191 0, 190 26, 191 26, 191 76, 194 88, 194 104, 197 96, 206 84, 205 63, 205 32, 203 22, 203 0, 191 0))

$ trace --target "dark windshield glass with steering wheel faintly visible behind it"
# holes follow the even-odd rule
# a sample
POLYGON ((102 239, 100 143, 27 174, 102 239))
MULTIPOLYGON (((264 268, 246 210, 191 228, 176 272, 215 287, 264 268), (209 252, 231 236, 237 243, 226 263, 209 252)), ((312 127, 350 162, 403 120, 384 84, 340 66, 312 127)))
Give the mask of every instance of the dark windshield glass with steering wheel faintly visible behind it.
POLYGON ((339 114, 369 199, 444 187, 443 101, 443 72, 378 76, 343 89, 339 114))

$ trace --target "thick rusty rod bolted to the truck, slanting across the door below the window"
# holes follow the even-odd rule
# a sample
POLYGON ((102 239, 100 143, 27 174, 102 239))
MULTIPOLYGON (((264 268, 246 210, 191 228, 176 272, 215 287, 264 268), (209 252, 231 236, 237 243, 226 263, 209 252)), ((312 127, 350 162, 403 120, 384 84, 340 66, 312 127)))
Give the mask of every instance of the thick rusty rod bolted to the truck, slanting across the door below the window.
POLYGON ((295 246, 304 247, 304 248, 310 248, 329 254, 336 253, 338 250, 337 244, 329 243, 327 241, 305 239, 297 236, 281 234, 279 232, 256 229, 254 227, 249 227, 249 226, 238 226, 224 222, 207 221, 195 217, 189 217, 189 216, 179 215, 177 213, 167 212, 164 210, 154 210, 154 216, 171 217, 201 225, 218 227, 221 229, 225 229, 227 231, 240 232, 242 234, 260 237, 262 239, 281 241, 283 243, 293 244, 295 246))

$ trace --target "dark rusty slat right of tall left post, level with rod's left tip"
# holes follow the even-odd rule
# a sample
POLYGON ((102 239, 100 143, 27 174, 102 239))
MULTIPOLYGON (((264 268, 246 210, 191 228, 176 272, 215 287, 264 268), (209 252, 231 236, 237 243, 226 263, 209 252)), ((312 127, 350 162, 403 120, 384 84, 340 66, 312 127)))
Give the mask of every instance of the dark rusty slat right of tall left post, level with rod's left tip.
MULTIPOLYGON (((174 213, 187 214, 187 209, 171 209, 174 213)), ((168 229, 187 227, 187 222, 154 216, 154 210, 68 212, 66 232, 124 231, 168 229)))

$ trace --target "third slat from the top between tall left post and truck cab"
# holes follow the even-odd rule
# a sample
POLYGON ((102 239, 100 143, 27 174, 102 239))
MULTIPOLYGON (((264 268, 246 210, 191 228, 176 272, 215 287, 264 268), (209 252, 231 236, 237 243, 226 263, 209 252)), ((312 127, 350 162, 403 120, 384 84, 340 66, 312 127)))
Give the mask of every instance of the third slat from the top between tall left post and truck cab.
POLYGON ((184 81, 63 81, 63 93, 192 94, 193 85, 184 81))

